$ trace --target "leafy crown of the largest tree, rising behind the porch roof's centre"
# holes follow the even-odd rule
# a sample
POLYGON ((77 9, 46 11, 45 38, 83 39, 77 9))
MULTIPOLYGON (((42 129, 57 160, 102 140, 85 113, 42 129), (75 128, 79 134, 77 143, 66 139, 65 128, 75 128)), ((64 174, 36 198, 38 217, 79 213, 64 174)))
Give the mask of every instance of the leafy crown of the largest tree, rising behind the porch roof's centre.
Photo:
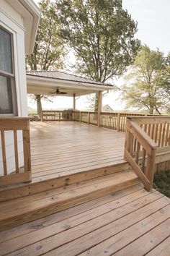
POLYGON ((121 0, 56 0, 55 7, 59 35, 76 54, 77 72, 99 82, 125 72, 140 42, 121 0))

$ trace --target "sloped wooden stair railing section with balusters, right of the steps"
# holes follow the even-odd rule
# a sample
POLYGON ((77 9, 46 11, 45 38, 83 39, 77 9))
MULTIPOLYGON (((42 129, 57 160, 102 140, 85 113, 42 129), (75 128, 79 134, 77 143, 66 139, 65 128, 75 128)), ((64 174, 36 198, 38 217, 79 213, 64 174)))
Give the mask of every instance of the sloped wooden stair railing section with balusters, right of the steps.
POLYGON ((133 167, 148 191, 153 187, 153 176, 156 163, 156 148, 145 131, 134 121, 127 120, 124 158, 133 167), (135 155, 135 158, 134 158, 135 155), (142 155, 140 164, 140 155, 142 155), (147 162, 146 162, 147 159, 147 162))

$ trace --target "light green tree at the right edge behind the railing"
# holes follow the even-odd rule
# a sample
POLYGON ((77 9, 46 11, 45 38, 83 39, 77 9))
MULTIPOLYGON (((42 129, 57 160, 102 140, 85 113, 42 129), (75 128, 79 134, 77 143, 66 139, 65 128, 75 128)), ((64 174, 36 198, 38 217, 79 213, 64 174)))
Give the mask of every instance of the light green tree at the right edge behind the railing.
POLYGON ((123 85, 122 100, 127 106, 148 109, 149 114, 156 111, 161 114, 169 97, 169 61, 157 50, 151 51, 148 46, 141 46, 134 64, 123 85))

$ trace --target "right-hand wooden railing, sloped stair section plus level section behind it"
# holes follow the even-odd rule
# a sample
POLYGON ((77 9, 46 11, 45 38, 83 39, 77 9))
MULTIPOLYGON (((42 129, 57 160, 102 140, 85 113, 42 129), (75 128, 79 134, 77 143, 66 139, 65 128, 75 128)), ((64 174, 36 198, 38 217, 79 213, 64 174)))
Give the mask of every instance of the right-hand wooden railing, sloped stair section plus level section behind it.
POLYGON ((126 122, 125 160, 149 191, 156 163, 170 160, 170 117, 130 116, 126 122))

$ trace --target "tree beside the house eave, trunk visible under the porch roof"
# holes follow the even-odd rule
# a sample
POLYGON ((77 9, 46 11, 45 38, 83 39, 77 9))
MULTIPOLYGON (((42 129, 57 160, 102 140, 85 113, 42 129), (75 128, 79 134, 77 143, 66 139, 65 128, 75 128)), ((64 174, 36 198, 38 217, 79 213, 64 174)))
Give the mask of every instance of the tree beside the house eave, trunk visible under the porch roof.
MULTIPOLYGON (((34 51, 26 58, 26 68, 32 70, 49 70, 63 68, 66 50, 58 37, 58 19, 55 15, 53 1, 41 0, 40 24, 37 30, 34 51)), ((45 95, 33 95, 37 102, 37 114, 41 115, 41 99, 48 100, 45 95)))

